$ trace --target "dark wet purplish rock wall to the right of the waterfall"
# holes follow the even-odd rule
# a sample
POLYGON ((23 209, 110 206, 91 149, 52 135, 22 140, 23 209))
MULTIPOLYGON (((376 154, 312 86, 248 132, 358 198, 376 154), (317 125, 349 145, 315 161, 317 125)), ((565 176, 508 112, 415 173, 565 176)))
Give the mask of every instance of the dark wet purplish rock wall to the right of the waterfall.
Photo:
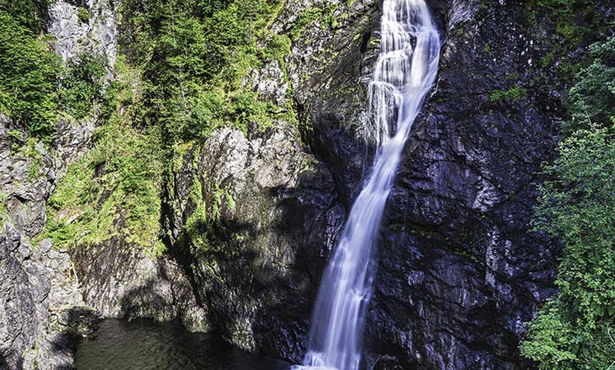
POLYGON ((567 86, 538 65, 551 25, 527 27, 522 4, 433 5, 446 42, 387 206, 367 362, 520 369, 525 323, 556 291, 560 251, 530 221, 567 86))

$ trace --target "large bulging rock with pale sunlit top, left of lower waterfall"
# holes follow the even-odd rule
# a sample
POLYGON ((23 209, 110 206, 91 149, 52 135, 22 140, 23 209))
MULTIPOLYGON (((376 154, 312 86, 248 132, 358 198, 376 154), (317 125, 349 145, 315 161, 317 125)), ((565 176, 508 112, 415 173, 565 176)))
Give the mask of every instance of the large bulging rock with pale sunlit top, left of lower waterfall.
POLYGON ((324 235, 339 232, 344 209, 334 203, 330 172, 305 153, 296 129, 274 126, 247 136, 218 129, 185 155, 175 209, 183 231, 171 253, 228 340, 296 361, 311 280, 322 268, 312 256, 328 253, 332 240, 324 235), (194 225, 204 207, 218 219, 194 225))

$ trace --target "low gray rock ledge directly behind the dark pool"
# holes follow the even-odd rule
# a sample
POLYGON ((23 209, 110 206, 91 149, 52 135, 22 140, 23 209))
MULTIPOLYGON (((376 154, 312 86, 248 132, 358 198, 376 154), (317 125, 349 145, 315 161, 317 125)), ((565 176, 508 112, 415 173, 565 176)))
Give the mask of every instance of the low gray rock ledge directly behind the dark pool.
POLYGON ((179 318, 192 331, 208 331, 209 316, 177 263, 151 256, 121 237, 71 250, 83 299, 97 314, 119 318, 179 318))

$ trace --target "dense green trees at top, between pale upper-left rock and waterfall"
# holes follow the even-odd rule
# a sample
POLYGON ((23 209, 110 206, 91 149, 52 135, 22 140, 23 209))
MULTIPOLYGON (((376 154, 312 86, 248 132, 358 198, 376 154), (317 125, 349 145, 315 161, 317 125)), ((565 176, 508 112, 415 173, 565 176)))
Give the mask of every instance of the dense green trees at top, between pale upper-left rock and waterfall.
POLYGON ((127 1, 125 42, 129 62, 144 80, 140 116, 157 125, 167 147, 203 138, 230 122, 267 124, 280 112, 242 88, 250 67, 281 59, 283 37, 266 35, 281 3, 235 1, 127 1), (264 39, 264 45, 257 40, 264 39))

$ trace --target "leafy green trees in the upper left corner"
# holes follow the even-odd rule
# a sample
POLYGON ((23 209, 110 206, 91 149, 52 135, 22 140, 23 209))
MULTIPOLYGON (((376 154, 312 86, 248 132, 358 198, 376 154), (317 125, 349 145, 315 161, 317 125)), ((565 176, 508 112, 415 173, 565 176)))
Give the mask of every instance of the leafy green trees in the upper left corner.
POLYGON ((61 112, 83 119, 100 100, 105 61, 83 55, 63 66, 22 19, 0 10, 0 113, 49 143, 61 112))

